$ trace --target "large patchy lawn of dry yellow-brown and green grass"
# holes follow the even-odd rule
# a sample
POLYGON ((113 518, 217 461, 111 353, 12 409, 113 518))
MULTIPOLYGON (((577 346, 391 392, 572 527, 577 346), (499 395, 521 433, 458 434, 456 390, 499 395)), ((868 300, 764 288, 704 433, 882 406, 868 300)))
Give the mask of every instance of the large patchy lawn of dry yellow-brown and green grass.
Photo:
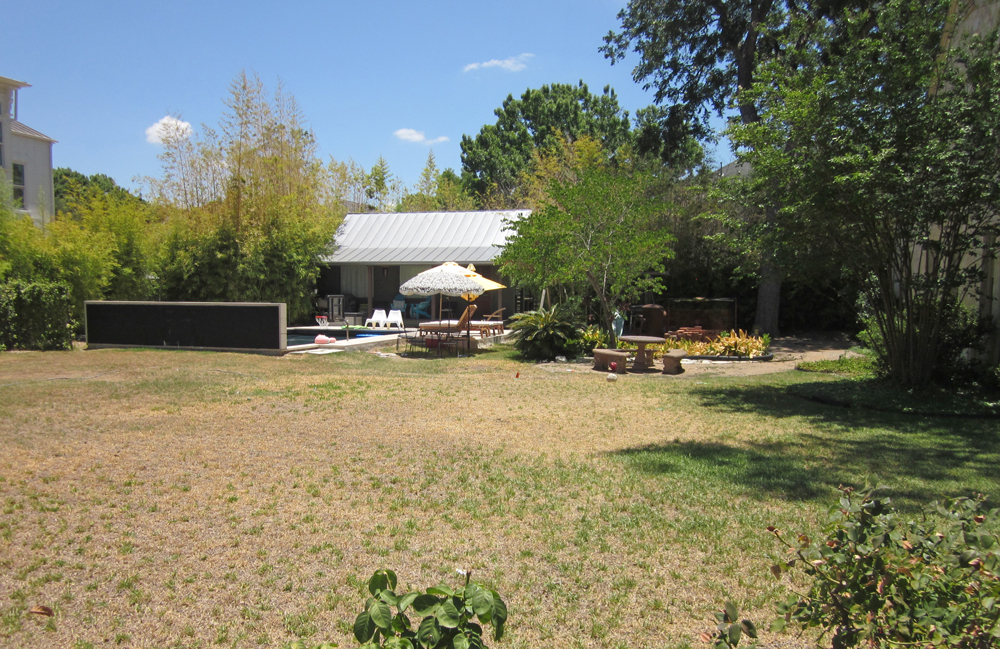
POLYGON ((0 645, 351 647, 381 567, 471 569, 507 601, 501 646, 695 645, 727 598, 766 627, 767 525, 813 531, 876 474, 909 510, 998 493, 995 420, 787 390, 828 380, 0 354, 0 645))

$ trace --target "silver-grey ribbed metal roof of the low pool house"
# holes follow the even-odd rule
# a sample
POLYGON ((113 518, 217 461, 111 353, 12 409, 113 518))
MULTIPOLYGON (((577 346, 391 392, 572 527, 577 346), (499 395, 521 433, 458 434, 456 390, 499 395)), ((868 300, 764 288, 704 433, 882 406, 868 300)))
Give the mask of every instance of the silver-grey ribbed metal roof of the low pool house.
POLYGON ((487 264, 507 241, 504 219, 531 210, 348 214, 332 264, 487 264))

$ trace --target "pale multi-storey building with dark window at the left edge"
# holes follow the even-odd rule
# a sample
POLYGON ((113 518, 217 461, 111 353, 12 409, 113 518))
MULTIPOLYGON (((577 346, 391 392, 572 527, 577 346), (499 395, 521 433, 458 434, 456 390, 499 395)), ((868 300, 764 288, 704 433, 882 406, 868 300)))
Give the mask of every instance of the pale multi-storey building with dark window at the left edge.
POLYGON ((18 121, 18 91, 31 86, 0 77, 0 167, 13 190, 15 208, 35 225, 52 220, 52 144, 47 135, 18 121))

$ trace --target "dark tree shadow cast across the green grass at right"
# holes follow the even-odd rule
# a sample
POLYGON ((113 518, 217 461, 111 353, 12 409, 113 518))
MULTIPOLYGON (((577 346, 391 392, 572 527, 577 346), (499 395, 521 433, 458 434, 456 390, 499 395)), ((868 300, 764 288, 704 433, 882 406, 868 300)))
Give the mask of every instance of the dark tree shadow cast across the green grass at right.
MULTIPOLYGON (((774 428, 786 432, 778 441, 750 440, 737 447, 661 447, 657 450, 661 464, 676 462, 679 455, 705 463, 728 461, 744 468, 726 474, 725 479, 793 499, 829 493, 838 484, 862 484, 876 475, 906 508, 943 496, 1000 494, 996 469, 1000 422, 996 420, 827 406, 799 398, 781 384, 715 386, 696 389, 694 394, 707 408, 773 418, 774 428), (795 420, 801 421, 801 428, 795 420)), ((632 452, 649 451, 625 453, 632 452)), ((638 465, 655 467, 656 463, 644 460, 638 465)))

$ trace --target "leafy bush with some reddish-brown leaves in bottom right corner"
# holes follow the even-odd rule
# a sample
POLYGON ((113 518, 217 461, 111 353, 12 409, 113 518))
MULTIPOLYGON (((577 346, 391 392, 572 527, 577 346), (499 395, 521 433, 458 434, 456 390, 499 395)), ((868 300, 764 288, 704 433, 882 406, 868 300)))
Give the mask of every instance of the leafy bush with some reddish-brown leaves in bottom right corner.
POLYGON ((833 632, 835 649, 997 646, 996 509, 985 511, 982 498, 959 498, 906 520, 874 488, 842 492, 826 538, 803 534, 790 543, 768 528, 795 556, 773 566, 775 576, 801 565, 812 579, 807 594, 778 605, 772 631, 819 626, 833 632))

